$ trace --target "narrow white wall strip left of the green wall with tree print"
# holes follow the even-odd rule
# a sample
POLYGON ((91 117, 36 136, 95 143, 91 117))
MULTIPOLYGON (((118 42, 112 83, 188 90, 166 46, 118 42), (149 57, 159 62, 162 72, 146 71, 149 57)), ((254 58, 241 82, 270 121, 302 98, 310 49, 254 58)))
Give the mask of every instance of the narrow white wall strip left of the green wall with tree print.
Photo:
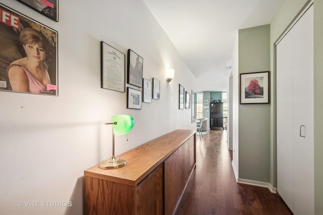
POLYGON ((238 63, 238 32, 236 42, 231 58, 231 73, 233 81, 232 91, 232 148, 233 148, 233 160, 232 166, 235 172, 236 180, 239 178, 239 63, 238 63))

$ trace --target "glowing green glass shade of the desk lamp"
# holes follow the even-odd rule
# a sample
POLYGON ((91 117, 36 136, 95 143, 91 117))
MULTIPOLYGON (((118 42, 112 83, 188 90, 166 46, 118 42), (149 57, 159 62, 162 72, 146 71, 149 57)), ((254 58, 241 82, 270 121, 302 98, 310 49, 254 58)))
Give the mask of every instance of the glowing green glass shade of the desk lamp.
POLYGON ((128 114, 119 114, 111 117, 113 130, 117 136, 128 133, 135 124, 133 117, 128 114))

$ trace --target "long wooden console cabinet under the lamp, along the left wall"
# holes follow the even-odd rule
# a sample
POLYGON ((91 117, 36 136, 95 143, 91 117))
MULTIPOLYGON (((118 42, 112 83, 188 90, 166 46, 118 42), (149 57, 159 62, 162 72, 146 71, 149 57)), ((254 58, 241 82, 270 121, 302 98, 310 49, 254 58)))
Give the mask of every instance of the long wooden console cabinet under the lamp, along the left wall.
POLYGON ((84 171, 86 214, 174 214, 194 171, 195 130, 175 130, 118 157, 127 165, 84 171))

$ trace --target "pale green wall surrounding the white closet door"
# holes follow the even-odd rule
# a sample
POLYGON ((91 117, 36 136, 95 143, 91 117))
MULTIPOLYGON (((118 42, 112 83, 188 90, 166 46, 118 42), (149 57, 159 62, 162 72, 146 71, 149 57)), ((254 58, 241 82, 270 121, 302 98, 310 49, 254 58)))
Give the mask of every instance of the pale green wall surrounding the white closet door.
MULTIPOLYGON (((274 43, 301 11, 307 0, 284 0, 271 23, 271 70, 273 88, 276 89, 274 43)), ((315 214, 323 214, 323 1, 314 0, 314 200, 315 214)), ((271 108, 271 183, 276 185, 276 91, 272 91, 271 108)), ((306 185, 305 185, 306 186, 306 185)))

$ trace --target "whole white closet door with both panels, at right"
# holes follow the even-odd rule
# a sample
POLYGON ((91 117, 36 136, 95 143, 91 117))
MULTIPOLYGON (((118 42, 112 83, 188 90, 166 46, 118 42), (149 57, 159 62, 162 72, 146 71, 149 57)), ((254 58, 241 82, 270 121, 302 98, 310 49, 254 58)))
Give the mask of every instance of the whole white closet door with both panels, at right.
POLYGON ((277 45, 277 191, 314 214, 313 6, 277 45))

